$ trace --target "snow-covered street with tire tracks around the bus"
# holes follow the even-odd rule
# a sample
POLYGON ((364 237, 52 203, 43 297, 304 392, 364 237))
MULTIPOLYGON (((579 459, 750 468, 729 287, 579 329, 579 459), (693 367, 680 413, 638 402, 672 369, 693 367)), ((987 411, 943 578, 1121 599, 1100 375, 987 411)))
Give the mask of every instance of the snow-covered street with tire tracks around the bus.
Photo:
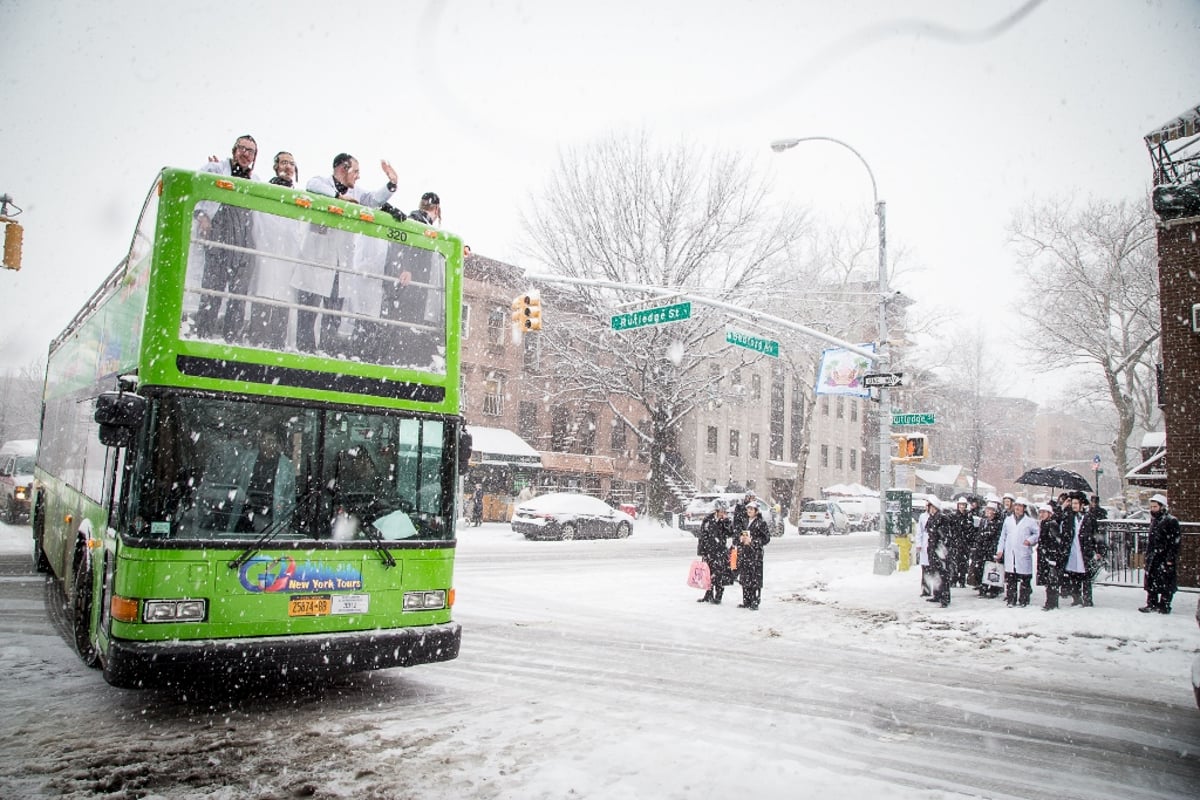
MULTIPOLYGON (((763 606, 696 603, 689 535, 460 533, 457 661, 253 696, 108 687, 54 632, 28 527, 0 527, 0 796, 1190 798, 1195 595, 1004 608, 875 534, 767 549, 763 606), (19 573, 19 575, 18 575, 19 573)), ((1038 589, 1034 600, 1040 602, 1038 589)))

